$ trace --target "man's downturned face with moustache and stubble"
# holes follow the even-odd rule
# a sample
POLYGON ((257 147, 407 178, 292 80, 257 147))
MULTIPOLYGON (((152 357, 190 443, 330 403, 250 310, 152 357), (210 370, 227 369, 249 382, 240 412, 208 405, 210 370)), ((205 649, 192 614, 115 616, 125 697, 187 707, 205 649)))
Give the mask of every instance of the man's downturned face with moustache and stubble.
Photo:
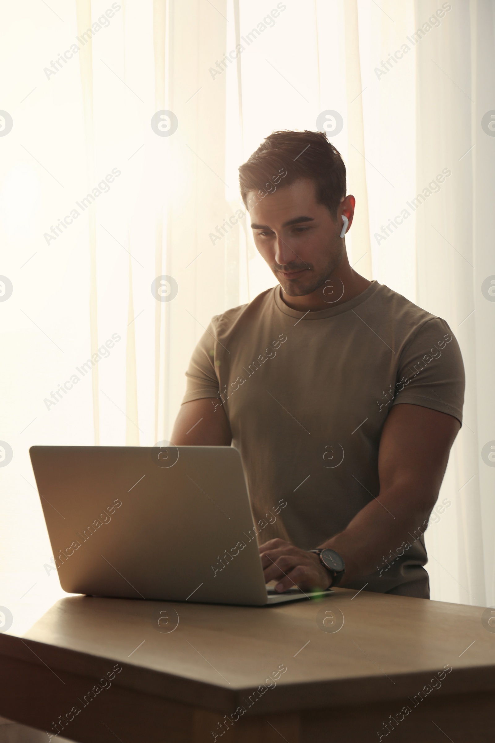
POLYGON ((324 285, 345 252, 341 208, 338 224, 318 204, 315 191, 314 181, 305 178, 262 199, 255 192, 247 195, 255 245, 289 296, 304 296, 324 285))

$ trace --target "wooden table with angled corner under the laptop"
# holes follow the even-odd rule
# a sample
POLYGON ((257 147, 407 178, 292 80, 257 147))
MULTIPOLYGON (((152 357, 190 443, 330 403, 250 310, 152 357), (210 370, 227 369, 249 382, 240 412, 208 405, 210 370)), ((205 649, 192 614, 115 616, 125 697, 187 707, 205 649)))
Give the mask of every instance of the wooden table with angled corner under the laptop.
POLYGON ((261 609, 67 597, 0 635, 0 715, 83 743, 493 742, 483 611, 346 589, 261 609))

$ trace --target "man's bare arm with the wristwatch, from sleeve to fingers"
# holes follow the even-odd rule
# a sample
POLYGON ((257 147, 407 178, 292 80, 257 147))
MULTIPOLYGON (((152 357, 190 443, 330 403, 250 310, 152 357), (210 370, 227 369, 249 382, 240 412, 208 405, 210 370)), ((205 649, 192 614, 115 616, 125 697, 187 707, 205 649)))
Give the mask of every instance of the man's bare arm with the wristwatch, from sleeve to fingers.
MULTIPOLYGON (((423 533, 439 495, 450 447, 460 424, 452 415, 402 403, 390 411, 378 451, 378 497, 361 509, 341 533, 322 548, 344 558, 339 585, 376 571, 384 555, 394 553, 413 533, 423 533)), ((327 588, 329 577, 318 556, 272 539, 260 548, 265 580, 280 580, 278 591, 291 585, 327 588)))

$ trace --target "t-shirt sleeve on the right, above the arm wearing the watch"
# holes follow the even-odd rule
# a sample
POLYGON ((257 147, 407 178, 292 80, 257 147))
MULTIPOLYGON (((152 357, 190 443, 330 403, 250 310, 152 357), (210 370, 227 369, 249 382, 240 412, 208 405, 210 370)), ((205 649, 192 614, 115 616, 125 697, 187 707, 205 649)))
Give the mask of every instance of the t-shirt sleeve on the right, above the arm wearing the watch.
POLYGON ((445 320, 422 325, 401 353, 394 405, 438 410, 462 424, 465 374, 461 349, 445 320))

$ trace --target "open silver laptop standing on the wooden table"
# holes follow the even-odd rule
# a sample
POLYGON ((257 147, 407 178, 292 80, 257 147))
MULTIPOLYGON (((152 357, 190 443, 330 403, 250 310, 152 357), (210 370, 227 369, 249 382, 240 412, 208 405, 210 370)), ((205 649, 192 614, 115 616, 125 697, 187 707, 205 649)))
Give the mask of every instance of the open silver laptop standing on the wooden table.
POLYGON ((266 587, 232 447, 31 447, 30 458, 68 593, 273 606, 331 592, 266 587))

